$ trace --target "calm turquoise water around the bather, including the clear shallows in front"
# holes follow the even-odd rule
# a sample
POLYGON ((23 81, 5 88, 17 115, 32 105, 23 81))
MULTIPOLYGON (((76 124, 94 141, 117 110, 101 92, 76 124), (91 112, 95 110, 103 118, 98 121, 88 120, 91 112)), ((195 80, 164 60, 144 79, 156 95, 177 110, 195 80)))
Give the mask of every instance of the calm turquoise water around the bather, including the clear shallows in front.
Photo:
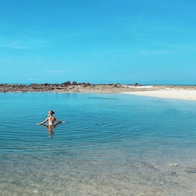
POLYGON ((0 195, 196 195, 196 102, 1 93, 0 195), (66 123, 36 126, 48 110, 66 123))

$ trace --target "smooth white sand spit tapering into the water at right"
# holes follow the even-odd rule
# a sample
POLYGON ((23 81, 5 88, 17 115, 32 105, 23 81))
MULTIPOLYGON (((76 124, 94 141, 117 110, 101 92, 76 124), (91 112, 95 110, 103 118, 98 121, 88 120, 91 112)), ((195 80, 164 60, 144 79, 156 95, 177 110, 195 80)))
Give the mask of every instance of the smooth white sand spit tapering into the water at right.
POLYGON ((196 101, 196 90, 188 89, 159 89, 159 90, 143 90, 134 92, 125 92, 126 94, 169 98, 169 99, 182 99, 196 101))

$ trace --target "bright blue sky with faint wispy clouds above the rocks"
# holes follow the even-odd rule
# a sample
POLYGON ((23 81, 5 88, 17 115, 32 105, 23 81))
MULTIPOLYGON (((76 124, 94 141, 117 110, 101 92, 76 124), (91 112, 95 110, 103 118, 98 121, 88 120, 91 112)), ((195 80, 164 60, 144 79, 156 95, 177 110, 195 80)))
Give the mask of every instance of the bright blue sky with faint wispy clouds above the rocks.
POLYGON ((195 84, 194 0, 0 1, 0 83, 195 84))

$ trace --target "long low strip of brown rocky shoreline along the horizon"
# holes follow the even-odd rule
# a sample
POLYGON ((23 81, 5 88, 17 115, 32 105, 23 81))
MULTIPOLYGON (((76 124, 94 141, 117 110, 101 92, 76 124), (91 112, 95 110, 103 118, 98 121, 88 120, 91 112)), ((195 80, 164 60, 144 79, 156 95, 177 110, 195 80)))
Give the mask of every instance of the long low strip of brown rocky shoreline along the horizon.
POLYGON ((151 91, 167 88, 196 90, 196 86, 168 86, 153 85, 142 86, 138 83, 133 85, 123 84, 90 84, 77 82, 64 82, 61 84, 0 84, 0 92, 89 92, 89 93, 121 93, 135 91, 151 91))

